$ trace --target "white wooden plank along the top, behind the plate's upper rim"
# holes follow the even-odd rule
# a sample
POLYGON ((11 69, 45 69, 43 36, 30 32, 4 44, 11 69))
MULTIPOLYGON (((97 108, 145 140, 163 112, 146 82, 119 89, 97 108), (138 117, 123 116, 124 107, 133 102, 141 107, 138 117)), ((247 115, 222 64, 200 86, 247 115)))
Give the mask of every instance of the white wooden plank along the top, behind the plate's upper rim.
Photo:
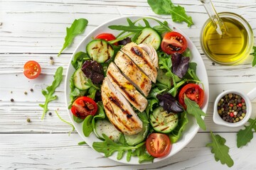
MULTIPOLYGON (((213 1, 218 11, 233 11, 247 19, 252 29, 256 27, 253 11, 248 10, 255 5, 254 1, 242 3, 238 1, 213 1), (226 4, 230 6, 226 6, 226 4), (239 10, 237 10, 239 8, 239 10)), ((3 10, 0 27, 0 52, 48 52, 58 53, 65 38, 65 28, 75 18, 87 18, 89 25, 85 33, 75 38, 73 46, 65 52, 73 52, 80 40, 96 26, 119 16, 149 15, 167 19, 169 23, 181 28, 201 50, 199 33, 201 26, 208 18, 203 6, 197 1, 174 1, 181 4, 195 23, 187 28, 186 23, 178 24, 170 20, 170 16, 156 15, 146 1, 1 1, 3 10), (131 5, 132 4, 132 5, 131 5), (21 8, 22 6, 22 8, 21 8), (196 34, 195 34, 196 33, 196 34), (26 45, 24 45, 26 43, 26 45)))

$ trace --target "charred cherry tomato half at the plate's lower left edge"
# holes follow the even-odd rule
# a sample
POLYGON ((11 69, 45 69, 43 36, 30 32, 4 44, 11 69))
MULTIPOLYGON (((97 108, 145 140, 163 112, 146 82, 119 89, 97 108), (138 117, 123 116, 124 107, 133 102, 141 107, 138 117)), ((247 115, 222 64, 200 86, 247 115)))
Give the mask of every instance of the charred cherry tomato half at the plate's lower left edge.
POLYGON ((81 96, 73 102, 71 112, 76 117, 85 119, 87 115, 95 115, 97 103, 92 98, 81 96))

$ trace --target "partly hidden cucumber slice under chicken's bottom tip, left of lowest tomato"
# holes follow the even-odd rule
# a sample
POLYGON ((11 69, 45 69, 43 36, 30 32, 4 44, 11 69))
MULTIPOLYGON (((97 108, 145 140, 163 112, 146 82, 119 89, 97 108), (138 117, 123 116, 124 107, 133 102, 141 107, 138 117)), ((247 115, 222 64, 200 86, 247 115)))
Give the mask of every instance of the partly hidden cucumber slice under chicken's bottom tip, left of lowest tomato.
POLYGON ((124 135, 125 141, 128 145, 134 146, 144 141, 149 132, 149 123, 143 123, 142 131, 135 135, 124 135))

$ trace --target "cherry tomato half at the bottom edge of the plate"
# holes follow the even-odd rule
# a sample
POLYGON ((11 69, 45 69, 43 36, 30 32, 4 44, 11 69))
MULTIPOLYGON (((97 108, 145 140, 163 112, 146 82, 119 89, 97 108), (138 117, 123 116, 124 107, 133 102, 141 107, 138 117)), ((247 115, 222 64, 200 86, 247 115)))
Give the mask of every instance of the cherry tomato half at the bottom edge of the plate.
POLYGON ((163 133, 151 133, 146 139, 146 150, 153 157, 164 157, 171 152, 169 136, 163 133))

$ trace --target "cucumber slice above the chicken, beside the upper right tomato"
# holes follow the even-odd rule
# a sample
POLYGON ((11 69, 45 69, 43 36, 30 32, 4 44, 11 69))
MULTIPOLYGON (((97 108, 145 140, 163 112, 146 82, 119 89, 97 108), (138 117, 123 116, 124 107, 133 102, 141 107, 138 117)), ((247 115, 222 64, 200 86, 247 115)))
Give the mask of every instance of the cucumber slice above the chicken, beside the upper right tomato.
POLYGON ((158 50, 161 45, 161 36, 153 28, 144 28, 136 40, 137 44, 146 44, 158 50))

